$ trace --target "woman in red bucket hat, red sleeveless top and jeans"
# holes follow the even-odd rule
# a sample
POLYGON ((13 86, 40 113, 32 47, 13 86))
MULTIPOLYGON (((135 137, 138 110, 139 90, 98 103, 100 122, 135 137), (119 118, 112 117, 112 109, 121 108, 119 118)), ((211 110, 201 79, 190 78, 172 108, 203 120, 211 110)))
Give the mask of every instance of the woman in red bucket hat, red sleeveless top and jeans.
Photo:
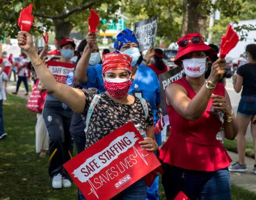
POLYGON ((218 80, 225 74, 225 60, 216 60, 208 79, 204 78, 208 57, 214 50, 200 34, 178 39, 175 64, 186 77, 166 88, 166 109, 170 137, 160 158, 162 184, 167 199, 183 191, 189 199, 230 199, 229 171, 232 161, 222 145, 223 138, 237 134, 229 95, 218 80))

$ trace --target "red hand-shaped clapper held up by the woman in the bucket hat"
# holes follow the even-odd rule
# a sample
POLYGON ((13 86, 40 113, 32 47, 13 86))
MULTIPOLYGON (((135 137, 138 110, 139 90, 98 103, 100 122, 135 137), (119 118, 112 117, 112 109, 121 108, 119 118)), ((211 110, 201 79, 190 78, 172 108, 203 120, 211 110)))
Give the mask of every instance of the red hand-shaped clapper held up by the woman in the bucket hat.
POLYGON ((239 41, 239 36, 236 32, 234 32, 232 26, 229 24, 227 25, 226 34, 221 38, 221 55, 222 59, 225 59, 226 54, 230 52, 231 49, 236 46, 237 42, 239 41))

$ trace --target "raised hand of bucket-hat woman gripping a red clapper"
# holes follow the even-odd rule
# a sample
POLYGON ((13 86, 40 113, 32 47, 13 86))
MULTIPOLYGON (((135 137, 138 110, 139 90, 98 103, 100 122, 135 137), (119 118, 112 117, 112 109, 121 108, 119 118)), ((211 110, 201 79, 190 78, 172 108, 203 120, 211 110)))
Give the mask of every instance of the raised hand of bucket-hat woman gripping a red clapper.
POLYGON ((212 63, 211 74, 208 77, 209 81, 217 83, 226 72, 226 60, 218 59, 212 63))

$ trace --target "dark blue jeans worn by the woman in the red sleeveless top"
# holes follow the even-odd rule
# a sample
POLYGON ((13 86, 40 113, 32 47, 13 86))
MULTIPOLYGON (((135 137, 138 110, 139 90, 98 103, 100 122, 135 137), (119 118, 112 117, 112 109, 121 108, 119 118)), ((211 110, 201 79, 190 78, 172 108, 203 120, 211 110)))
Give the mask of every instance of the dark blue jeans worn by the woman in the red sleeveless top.
POLYGON ((181 190, 190 200, 231 199, 227 168, 215 172, 202 172, 163 163, 162 184, 168 200, 174 199, 181 190))

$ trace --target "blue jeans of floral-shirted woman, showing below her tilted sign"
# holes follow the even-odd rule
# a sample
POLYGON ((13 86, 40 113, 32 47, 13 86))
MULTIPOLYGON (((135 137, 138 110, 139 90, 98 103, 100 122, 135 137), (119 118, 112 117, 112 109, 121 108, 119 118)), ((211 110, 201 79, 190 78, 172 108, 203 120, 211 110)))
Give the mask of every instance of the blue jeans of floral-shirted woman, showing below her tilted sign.
MULTIPOLYGON (((79 200, 86 200, 83 194, 79 191, 79 200)), ((125 190, 120 192, 111 200, 144 200, 146 198, 146 184, 144 179, 138 180, 125 190)))

